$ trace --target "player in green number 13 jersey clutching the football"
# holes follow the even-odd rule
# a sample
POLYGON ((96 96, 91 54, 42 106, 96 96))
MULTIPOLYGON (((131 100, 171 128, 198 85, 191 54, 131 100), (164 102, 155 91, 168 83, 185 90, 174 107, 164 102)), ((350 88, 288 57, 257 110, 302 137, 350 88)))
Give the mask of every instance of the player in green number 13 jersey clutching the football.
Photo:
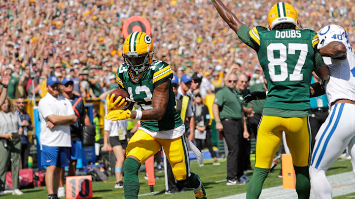
POLYGON ((144 32, 132 32, 123 44, 124 63, 118 67, 116 80, 125 89, 136 110, 121 110, 125 99, 107 95, 106 119, 141 120, 141 126, 130 139, 124 161, 123 189, 126 199, 137 199, 138 169, 161 147, 169 160, 175 179, 192 188, 196 199, 206 199, 205 188, 197 174, 190 172, 185 140, 185 126, 175 109, 175 94, 171 85, 170 65, 153 60, 153 40, 144 32))

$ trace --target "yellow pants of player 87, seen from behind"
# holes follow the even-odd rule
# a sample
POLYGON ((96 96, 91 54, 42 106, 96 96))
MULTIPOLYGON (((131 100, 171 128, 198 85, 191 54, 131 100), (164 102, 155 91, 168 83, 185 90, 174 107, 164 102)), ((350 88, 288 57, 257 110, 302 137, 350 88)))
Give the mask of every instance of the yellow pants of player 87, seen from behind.
POLYGON ((278 117, 263 115, 256 138, 255 167, 270 169, 280 147, 283 131, 292 155, 293 165, 308 166, 310 131, 308 117, 278 117))

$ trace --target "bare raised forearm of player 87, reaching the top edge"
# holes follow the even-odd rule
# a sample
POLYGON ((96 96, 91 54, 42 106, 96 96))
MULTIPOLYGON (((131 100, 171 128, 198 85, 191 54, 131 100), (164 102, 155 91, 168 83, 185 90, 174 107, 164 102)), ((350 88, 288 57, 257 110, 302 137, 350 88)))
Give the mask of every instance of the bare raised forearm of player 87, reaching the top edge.
POLYGON ((219 15, 222 19, 227 22, 228 26, 232 28, 236 33, 240 26, 242 26, 242 22, 237 18, 237 16, 228 9, 221 0, 212 0, 213 5, 218 11, 219 15))

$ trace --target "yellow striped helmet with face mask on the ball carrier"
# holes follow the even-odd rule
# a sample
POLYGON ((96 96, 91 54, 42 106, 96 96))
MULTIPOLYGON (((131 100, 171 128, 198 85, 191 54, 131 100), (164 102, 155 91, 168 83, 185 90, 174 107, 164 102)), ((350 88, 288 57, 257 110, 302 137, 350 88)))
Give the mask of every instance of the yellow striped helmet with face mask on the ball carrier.
POLYGON ((145 32, 132 32, 125 39, 122 56, 133 81, 137 82, 149 69, 153 54, 153 39, 145 32))

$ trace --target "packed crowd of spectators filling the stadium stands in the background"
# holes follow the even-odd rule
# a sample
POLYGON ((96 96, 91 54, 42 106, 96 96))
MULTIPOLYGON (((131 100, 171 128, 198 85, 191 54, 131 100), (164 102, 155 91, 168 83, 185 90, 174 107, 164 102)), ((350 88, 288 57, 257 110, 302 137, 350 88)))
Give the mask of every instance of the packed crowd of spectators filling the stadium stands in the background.
MULTIPOLYGON (((238 17, 253 19, 249 26, 266 26, 268 8, 275 2, 225 0, 238 17)), ((292 3, 300 28, 318 31, 324 24, 342 22, 350 37, 355 34, 350 0, 292 3)), ((32 90, 37 98, 43 97, 43 80, 50 75, 74 78, 74 90, 82 97, 98 97, 123 62, 122 26, 134 15, 149 20, 155 59, 170 63, 179 78, 198 71, 215 76, 219 87, 217 73, 228 68, 259 78, 253 74, 259 67, 256 54, 236 38, 207 0, 7 0, 0 2, 0 72, 12 71, 9 97, 31 98, 32 90)))

